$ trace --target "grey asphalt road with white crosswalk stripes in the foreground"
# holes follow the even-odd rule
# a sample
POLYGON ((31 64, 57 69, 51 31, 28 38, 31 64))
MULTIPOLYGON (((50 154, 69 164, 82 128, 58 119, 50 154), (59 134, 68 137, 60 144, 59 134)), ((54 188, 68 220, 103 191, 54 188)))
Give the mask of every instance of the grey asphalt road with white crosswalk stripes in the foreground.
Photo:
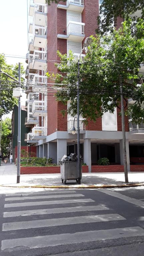
POLYGON ((144 188, 0 192, 1 256, 143 256, 144 188))

